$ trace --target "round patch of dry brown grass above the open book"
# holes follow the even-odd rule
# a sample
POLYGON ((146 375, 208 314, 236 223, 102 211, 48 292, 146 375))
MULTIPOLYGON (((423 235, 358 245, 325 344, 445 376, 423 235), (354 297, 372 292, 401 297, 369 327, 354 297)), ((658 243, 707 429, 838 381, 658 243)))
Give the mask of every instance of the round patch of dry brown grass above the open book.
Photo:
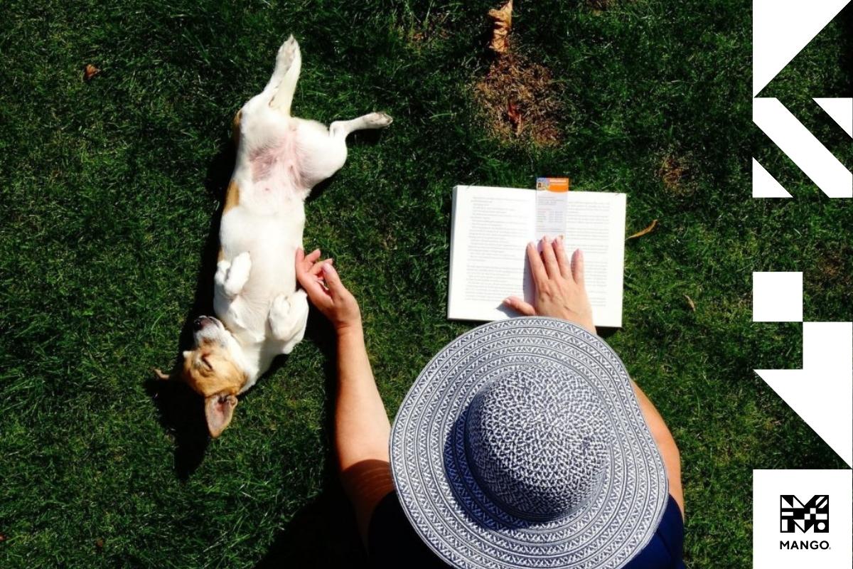
POLYGON ((560 142, 560 86, 547 67, 512 50, 492 62, 474 85, 474 98, 494 136, 554 146, 560 142))

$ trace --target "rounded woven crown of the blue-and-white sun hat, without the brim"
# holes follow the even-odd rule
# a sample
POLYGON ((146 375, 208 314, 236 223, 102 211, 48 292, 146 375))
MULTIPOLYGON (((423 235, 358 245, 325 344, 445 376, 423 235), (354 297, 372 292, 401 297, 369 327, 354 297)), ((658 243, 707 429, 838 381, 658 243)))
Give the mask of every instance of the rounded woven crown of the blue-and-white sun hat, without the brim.
POLYGON ((601 489, 614 433, 599 393, 550 366, 515 369, 473 398, 468 462, 483 491, 524 520, 557 520, 601 489))

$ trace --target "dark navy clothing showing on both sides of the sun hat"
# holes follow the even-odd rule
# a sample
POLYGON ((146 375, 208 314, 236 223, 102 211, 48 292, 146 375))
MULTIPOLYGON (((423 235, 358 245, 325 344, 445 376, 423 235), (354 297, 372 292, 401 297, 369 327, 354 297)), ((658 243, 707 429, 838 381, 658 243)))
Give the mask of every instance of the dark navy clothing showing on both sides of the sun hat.
MULTIPOLYGON (((669 496, 664 517, 652 540, 624 569, 684 569, 683 544, 682 511, 675 499, 669 496)), ((397 492, 389 492, 374 509, 368 526, 368 555, 370 566, 377 569, 400 566, 407 569, 447 567, 409 524, 397 500, 397 492)))

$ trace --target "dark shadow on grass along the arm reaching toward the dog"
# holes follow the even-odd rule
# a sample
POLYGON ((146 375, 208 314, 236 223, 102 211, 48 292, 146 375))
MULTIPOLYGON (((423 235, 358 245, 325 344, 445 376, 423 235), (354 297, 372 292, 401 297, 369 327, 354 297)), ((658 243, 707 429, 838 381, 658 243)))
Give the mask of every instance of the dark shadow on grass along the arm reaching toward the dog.
MULTIPOLYGON (((305 336, 323 354, 323 376, 326 392, 334 394, 337 386, 337 342, 334 329, 322 314, 311 306, 305 336)), ((334 395, 324 404, 323 428, 326 439, 333 440, 334 395)), ((305 504, 273 540, 270 549, 255 569, 272 567, 367 567, 361 538, 350 501, 340 485, 334 445, 326 444, 322 491, 305 504)))

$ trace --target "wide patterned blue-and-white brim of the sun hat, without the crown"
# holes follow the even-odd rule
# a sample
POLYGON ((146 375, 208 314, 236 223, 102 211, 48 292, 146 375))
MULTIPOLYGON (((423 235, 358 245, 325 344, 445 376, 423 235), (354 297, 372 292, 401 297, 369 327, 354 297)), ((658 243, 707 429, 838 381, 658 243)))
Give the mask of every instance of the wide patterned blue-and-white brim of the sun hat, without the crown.
POLYGON ((441 559, 465 569, 618 569, 653 537, 669 493, 624 364, 595 334, 554 318, 490 322, 445 346, 403 399, 390 452, 409 522, 441 559), (595 498, 560 520, 531 522, 479 488, 467 465, 464 418, 496 376, 541 365, 583 377, 617 436, 595 498))

